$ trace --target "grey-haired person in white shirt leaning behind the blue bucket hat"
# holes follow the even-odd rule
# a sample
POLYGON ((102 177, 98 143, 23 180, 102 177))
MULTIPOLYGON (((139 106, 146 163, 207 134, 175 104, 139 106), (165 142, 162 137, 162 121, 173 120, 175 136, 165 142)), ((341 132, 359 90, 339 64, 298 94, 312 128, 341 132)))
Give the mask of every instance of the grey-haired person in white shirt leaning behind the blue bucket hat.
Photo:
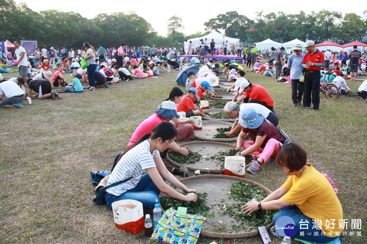
POLYGON ((232 137, 234 134, 236 134, 237 132, 239 132, 241 130, 241 127, 238 123, 239 120, 241 119, 239 117, 239 113, 242 110, 245 110, 247 108, 251 108, 253 110, 255 110, 256 112, 264 115, 264 117, 273 123, 273 125, 278 126, 278 122, 279 119, 276 116, 276 114, 272 111, 270 111, 268 108, 262 106, 261 104, 257 104, 257 103, 242 103, 241 105, 236 104, 233 101, 228 102, 225 106, 224 106, 224 112, 226 115, 229 115, 230 117, 236 118, 235 123, 233 123, 232 129, 228 132, 226 132, 226 135, 228 137, 232 137))

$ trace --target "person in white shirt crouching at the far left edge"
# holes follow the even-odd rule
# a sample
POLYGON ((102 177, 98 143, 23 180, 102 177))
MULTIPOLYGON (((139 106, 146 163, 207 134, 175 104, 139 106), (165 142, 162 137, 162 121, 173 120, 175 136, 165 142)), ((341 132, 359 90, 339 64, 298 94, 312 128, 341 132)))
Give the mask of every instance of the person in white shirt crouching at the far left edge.
POLYGON ((24 106, 19 103, 24 99, 25 99, 24 91, 17 84, 7 80, 0 81, 1 108, 22 108, 24 106), (4 97, 4 95, 6 97, 4 97))

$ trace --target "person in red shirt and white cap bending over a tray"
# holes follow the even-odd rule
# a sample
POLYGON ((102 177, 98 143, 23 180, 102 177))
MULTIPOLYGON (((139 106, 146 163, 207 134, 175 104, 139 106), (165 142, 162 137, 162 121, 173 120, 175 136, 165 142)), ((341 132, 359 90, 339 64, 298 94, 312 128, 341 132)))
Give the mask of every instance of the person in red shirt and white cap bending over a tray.
POLYGON ((236 101, 240 103, 258 103, 274 112, 274 101, 269 92, 260 85, 251 84, 251 82, 241 82, 238 93, 242 93, 242 96, 236 101), (246 83, 247 82, 247 83, 246 83))

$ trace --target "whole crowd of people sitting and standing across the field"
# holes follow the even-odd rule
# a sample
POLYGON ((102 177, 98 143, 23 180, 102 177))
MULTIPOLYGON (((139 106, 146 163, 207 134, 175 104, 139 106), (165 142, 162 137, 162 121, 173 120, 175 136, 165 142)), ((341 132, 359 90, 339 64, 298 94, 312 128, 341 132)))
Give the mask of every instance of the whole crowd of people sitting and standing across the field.
MULTIPOLYGON (((139 49, 134 52, 122 42, 115 53, 110 53, 112 48, 104 49, 100 45, 99 49, 96 50, 88 42, 84 42, 80 50, 69 51, 71 55, 75 55, 74 57, 69 58, 69 52, 62 49, 60 51, 62 57, 60 58, 54 48, 45 52, 49 53, 50 56, 46 54, 39 60, 35 56, 36 64, 41 62, 41 65, 40 72, 32 79, 28 76, 30 67, 27 58, 29 57, 25 55, 25 50, 20 46, 19 40, 14 41, 14 45, 17 47, 15 64, 18 66, 19 77, 0 82, 0 106, 5 108, 22 107, 19 103, 26 98, 25 86, 27 85, 28 97, 31 97, 31 93, 34 91, 36 95, 32 97, 61 99, 57 92, 52 91, 51 85, 54 87, 65 86, 69 92, 79 93, 84 90, 82 83, 88 83, 85 88, 87 90, 95 90, 103 86, 108 88, 109 83, 112 84, 112 82, 154 77, 163 72, 180 70, 187 64, 185 58, 175 60, 177 51, 173 49, 166 54, 167 56, 164 55, 164 51, 160 52, 155 46, 149 49, 149 53, 148 51, 146 53, 137 52, 139 49), (72 54, 73 52, 74 54, 72 54), (57 71, 51 72, 48 61, 50 61, 51 67, 55 67, 57 71), (83 68, 83 66, 85 67, 83 68), (63 77, 64 72, 69 71, 72 72, 73 77, 71 84, 65 82, 63 77)), ((280 77, 281 73, 287 72, 284 69, 287 68, 292 84, 292 107, 301 106, 302 95, 304 95, 304 109, 309 110, 312 102, 313 110, 319 110, 320 99, 317 96, 320 93, 320 70, 330 69, 330 66, 326 67, 325 63, 328 59, 334 60, 335 57, 331 58, 328 54, 317 50, 315 42, 307 41, 303 47, 295 44, 289 57, 284 57, 284 48, 280 48, 274 53, 275 60, 261 65, 260 62, 256 61, 257 50, 251 51, 254 48, 246 50, 246 53, 250 51, 251 62, 252 58, 255 58, 253 71, 264 76, 280 77), (307 53, 303 53, 302 48, 305 48, 307 53), (274 70, 274 66, 276 70, 274 70), (304 82, 301 81, 302 77, 304 77, 304 82)), ((342 59, 345 57, 344 54, 341 56, 342 59)), ((248 55, 246 55, 247 57, 248 55)), ((341 71, 334 78, 339 88, 342 86, 345 88, 342 89, 344 90, 342 94, 350 92, 345 78, 350 74, 351 79, 355 79, 356 69, 361 68, 360 58, 361 53, 356 51, 356 47, 353 48, 347 57, 347 61, 349 60, 348 69, 341 71)), ((337 59, 339 60, 339 57, 337 59)), ((191 64, 200 63, 199 56, 191 60, 191 64)), ((341 64, 348 65, 344 60, 341 64)), ((242 151, 236 155, 254 157, 254 160, 246 166, 246 170, 251 174, 258 173, 270 157, 273 157, 276 158, 276 164, 289 176, 279 189, 265 199, 245 204, 243 214, 250 214, 259 209, 277 209, 280 211, 274 215, 273 222, 282 216, 293 219, 308 219, 310 222, 316 218, 323 220, 343 219, 341 204, 327 178, 308 163, 305 150, 296 143, 290 143, 279 129, 279 119, 275 114, 275 105, 270 93, 264 87, 252 84, 244 78, 246 72, 240 64, 230 60, 218 63, 215 58, 210 59, 197 74, 192 71, 188 72, 185 84, 187 92, 184 93, 178 87, 172 88, 168 98, 136 128, 127 144, 127 149, 121 155, 107 182, 108 186, 127 180, 106 191, 105 199, 108 207, 112 208, 112 203, 117 200, 134 199, 142 202, 143 207, 153 208, 155 203, 159 203, 159 192, 176 199, 196 202, 196 190, 189 189, 174 177, 174 175, 189 176, 188 169, 184 166, 179 168, 171 166, 165 162, 164 156, 168 150, 186 156, 190 154, 187 148, 180 147, 175 141, 195 138, 193 127, 195 120, 190 117, 195 115, 210 117, 204 114, 198 105, 201 100, 207 99, 208 94, 219 96, 214 91, 214 87, 219 84, 220 68, 223 68, 226 79, 233 82, 227 91, 235 93, 235 96, 232 101, 225 105, 224 112, 236 118, 232 129, 226 133, 227 136, 232 137, 235 133, 240 132, 237 137, 236 149, 242 151), (184 112, 186 118, 181 118, 178 112, 184 112), (247 136, 251 140, 245 140, 247 136), (188 192, 188 194, 184 195, 176 191, 165 184, 165 181, 188 192), (309 187, 310 185, 312 188, 309 187)), ((358 95, 367 98, 367 80, 358 89, 358 95)), ((296 224, 299 228, 299 223, 296 224)), ((325 224, 325 221, 320 223, 320 226, 317 236, 304 237, 300 233, 296 236, 308 241, 328 242, 338 239, 339 234, 344 229, 340 226, 331 229, 325 224), (328 233, 328 235, 321 233, 328 233)))

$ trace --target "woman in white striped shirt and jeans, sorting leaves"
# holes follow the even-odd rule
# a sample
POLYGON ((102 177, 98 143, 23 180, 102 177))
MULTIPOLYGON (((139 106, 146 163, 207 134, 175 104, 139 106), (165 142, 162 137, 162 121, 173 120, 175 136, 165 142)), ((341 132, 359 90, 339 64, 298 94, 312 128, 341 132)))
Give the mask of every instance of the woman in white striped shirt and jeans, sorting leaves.
POLYGON ((141 202, 143 207, 154 208, 159 203, 158 192, 186 202, 196 202, 196 190, 189 189, 177 180, 166 168, 159 152, 170 148, 177 136, 177 130, 168 121, 156 125, 152 132, 144 134, 122 154, 120 161, 113 169, 107 186, 115 182, 130 180, 113 186, 106 191, 106 203, 112 209, 112 203, 133 199, 141 202), (177 188, 190 192, 183 195, 164 181, 177 188))

